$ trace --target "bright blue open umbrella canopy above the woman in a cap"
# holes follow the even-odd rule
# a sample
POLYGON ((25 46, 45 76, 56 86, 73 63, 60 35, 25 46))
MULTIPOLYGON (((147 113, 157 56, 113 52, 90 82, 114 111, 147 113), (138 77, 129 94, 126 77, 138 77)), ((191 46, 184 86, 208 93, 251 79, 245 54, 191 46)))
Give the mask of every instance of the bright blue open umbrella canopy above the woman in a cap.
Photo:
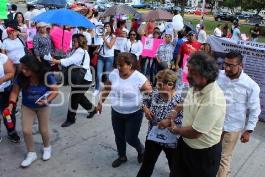
POLYGON ((96 28, 87 18, 80 13, 69 9, 48 10, 32 19, 33 22, 53 23, 61 26, 96 28))

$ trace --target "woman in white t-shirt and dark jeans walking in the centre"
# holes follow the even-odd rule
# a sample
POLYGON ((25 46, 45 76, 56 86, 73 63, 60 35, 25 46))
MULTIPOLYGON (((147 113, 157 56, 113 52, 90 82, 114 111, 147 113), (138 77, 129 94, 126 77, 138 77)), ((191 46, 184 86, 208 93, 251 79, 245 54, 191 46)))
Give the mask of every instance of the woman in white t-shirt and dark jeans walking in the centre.
POLYGON ((138 152, 138 163, 143 161, 143 145, 138 138, 143 112, 140 107, 142 92, 152 92, 147 78, 138 71, 137 57, 133 53, 123 52, 118 55, 117 69, 114 69, 104 85, 96 111, 101 114, 102 104, 110 94, 111 120, 118 150, 118 159, 112 167, 127 162, 126 142, 138 152))

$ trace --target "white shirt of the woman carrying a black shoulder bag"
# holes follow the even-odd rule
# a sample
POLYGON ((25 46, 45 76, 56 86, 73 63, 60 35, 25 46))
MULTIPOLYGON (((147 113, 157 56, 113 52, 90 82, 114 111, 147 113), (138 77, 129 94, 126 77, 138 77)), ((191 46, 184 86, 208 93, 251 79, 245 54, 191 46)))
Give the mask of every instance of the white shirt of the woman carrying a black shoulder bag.
POLYGON ((84 49, 79 47, 78 49, 71 51, 69 58, 63 58, 60 61, 64 67, 68 67, 72 64, 75 64, 77 66, 81 66, 84 54, 85 54, 85 58, 84 58, 84 63, 83 63, 82 67, 87 69, 86 74, 84 76, 84 79, 87 81, 92 81, 92 75, 91 75, 91 72, 89 69, 90 68, 90 66, 89 66, 90 58, 89 58, 89 54, 88 54, 87 50, 84 50, 84 49))

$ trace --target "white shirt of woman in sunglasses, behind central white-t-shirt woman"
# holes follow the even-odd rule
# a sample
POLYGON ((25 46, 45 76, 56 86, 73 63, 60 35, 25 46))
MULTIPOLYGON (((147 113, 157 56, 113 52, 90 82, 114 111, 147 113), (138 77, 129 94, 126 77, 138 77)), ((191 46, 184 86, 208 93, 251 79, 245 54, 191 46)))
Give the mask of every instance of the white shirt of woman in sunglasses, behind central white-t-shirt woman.
POLYGON ((121 52, 134 53, 137 56, 137 60, 139 60, 139 56, 142 53, 142 42, 140 40, 135 40, 134 43, 131 45, 131 40, 128 39, 126 45, 121 49, 121 52))

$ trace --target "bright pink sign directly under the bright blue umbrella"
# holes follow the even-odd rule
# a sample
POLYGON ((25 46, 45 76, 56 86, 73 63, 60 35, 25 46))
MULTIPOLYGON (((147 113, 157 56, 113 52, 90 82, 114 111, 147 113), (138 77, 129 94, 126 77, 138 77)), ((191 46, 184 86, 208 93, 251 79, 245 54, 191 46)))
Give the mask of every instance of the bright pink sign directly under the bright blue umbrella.
POLYGON ((50 33, 52 43, 54 47, 57 50, 61 50, 62 48, 62 42, 63 42, 63 48, 64 51, 67 52, 70 48, 71 43, 71 37, 72 37, 72 31, 65 30, 64 31, 64 40, 63 39, 63 29, 59 27, 53 28, 53 30, 50 33))

